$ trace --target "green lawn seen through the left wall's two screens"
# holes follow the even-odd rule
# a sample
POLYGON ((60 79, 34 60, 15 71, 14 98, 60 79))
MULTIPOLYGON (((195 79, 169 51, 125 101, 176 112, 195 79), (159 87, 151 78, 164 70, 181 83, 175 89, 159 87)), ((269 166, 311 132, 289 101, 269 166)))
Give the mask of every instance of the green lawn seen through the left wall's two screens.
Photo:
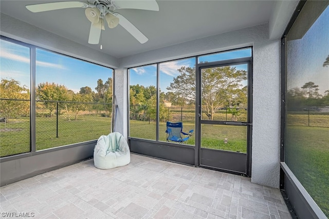
MULTIPOLYGON (((68 121, 64 115, 59 116, 58 138, 56 133, 56 116, 51 118, 36 117, 35 147, 44 150, 62 145, 98 139, 111 132, 111 118, 100 115, 80 115, 77 120, 68 121)), ((1 156, 20 154, 30 151, 29 117, 10 119, 0 123, 1 156)))

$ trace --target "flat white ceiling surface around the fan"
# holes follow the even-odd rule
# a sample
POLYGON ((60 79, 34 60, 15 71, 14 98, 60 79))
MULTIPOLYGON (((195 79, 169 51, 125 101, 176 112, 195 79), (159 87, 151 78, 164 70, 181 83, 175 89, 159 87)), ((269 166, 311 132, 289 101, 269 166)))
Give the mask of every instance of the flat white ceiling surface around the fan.
MULTIPOLYGON (((32 13, 25 6, 62 1, 0 1, 1 12, 66 39, 100 50, 88 44, 90 22, 83 8, 32 13)), ((81 1, 87 3, 87 1, 81 1)), ((157 0, 159 11, 117 9, 149 41, 140 44, 118 25, 102 31, 103 50, 122 58, 175 45, 206 36, 269 22, 275 1, 169 1, 157 0)))

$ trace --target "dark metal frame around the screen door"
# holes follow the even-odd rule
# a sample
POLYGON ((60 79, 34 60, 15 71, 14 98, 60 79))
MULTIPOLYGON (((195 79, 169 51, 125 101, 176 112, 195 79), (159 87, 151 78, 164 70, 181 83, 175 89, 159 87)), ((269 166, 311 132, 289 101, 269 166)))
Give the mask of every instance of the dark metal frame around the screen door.
MULTIPOLYGON (((230 59, 224 61, 216 62, 206 62, 206 63, 196 63, 195 67, 196 76, 196 104, 195 104, 195 166, 203 167, 213 170, 219 170, 222 172, 228 172, 239 175, 251 176, 251 161, 252 161, 252 57, 230 59), (246 171, 245 173, 231 171, 227 169, 220 169, 215 167, 203 166, 201 164, 201 117, 202 117, 202 107, 201 107, 201 72, 204 68, 212 67, 222 67, 229 65, 239 65, 247 64, 247 81, 248 81, 248 111, 247 111, 247 153, 246 153, 246 171)), ((213 123, 210 121, 209 123, 213 123)), ((220 150, 218 150, 220 151, 220 150)), ((225 151, 226 152, 226 151, 225 151)), ((237 153, 237 152, 231 152, 237 153)))

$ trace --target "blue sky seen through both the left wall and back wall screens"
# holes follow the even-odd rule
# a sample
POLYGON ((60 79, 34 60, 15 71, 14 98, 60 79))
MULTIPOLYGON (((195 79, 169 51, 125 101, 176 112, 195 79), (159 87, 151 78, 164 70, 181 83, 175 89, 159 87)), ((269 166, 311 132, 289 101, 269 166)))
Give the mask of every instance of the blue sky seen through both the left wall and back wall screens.
MULTIPOLYGON (((199 62, 212 62, 251 56, 251 49, 242 49, 223 53, 200 56, 199 62)), ((30 86, 29 48, 1 40, 0 76, 13 78, 30 86)), ((194 67, 195 58, 181 59, 160 63, 160 89, 168 92, 167 87, 179 75, 177 69, 181 66, 194 67)), ((246 70, 246 65, 237 69, 246 70)), ((81 87, 89 86, 93 90, 97 80, 104 82, 112 77, 112 69, 84 62, 57 53, 36 49, 36 85, 42 82, 54 82, 65 85, 68 89, 79 92, 81 87)), ((130 69, 130 84, 145 87, 156 85, 156 64, 130 69)))

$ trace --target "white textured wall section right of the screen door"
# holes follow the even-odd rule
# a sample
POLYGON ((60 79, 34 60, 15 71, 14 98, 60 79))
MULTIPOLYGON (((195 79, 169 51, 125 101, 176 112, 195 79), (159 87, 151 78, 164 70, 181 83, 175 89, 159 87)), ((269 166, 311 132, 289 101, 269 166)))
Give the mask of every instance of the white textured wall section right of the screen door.
POLYGON ((280 41, 255 44, 253 53, 252 177, 279 187, 280 41))

